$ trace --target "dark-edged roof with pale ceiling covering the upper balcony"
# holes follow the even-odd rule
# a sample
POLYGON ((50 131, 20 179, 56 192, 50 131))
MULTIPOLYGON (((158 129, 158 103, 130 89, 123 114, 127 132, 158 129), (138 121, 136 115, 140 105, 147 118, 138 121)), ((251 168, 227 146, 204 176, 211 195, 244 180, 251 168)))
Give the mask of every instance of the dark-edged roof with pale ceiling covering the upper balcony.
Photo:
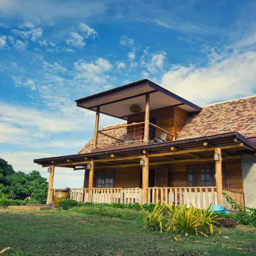
POLYGON ((96 111, 97 106, 99 106, 100 113, 126 120, 127 116, 134 114, 129 111, 129 108, 134 104, 142 108, 141 112, 145 111, 145 94, 147 93, 150 94, 150 110, 168 106, 178 106, 188 112, 202 110, 197 105, 148 79, 78 99, 76 105, 92 111, 96 111))

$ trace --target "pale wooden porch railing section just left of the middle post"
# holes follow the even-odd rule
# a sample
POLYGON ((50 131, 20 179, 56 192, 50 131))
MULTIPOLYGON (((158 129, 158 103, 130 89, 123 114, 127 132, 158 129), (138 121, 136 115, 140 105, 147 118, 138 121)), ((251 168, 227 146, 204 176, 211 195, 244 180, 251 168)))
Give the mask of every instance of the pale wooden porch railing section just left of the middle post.
POLYGON ((141 203, 141 190, 140 188, 93 188, 93 203, 141 203))

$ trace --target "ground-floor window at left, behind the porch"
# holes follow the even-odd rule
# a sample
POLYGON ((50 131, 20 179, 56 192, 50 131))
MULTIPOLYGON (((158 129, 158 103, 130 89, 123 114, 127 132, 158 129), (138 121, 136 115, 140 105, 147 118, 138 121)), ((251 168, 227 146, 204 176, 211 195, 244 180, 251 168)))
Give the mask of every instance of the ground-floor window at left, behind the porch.
POLYGON ((95 188, 113 188, 114 179, 115 179, 114 171, 96 172, 94 175, 94 187, 95 188))

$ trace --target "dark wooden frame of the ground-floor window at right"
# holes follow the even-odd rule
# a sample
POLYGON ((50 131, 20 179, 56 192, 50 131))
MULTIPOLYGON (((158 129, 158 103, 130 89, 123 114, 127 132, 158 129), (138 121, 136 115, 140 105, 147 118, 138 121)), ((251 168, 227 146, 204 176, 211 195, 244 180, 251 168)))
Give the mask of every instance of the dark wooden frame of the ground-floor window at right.
MULTIPOLYGON (((197 169, 198 187, 202 186, 201 185, 201 167, 202 166, 209 166, 209 170, 210 170, 210 186, 216 186, 216 183, 214 184, 215 163, 209 163, 209 164, 193 164, 193 165, 187 165, 186 166, 187 187, 189 187, 189 167, 195 167, 197 169)), ((222 163, 222 183, 223 183, 224 187, 226 186, 226 177, 225 176, 226 176, 225 175, 225 165, 224 165, 224 163, 222 163)))

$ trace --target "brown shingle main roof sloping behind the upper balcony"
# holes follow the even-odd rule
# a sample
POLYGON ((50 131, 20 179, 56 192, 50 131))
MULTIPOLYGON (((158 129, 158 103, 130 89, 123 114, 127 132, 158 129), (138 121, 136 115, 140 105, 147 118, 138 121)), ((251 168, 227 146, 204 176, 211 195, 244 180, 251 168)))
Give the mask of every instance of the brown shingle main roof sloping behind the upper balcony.
MULTIPOLYGON (((199 113, 189 116, 177 140, 186 140, 197 137, 223 134, 238 131, 244 137, 256 137, 256 95, 218 102, 202 107, 199 113)), ((122 124, 105 126, 104 128, 118 127, 122 124)), ((122 137, 126 128, 108 131, 113 137, 122 137)), ((111 138, 98 134, 97 145, 111 144, 111 138)), ((78 154, 90 153, 93 148, 91 139, 78 154)))

